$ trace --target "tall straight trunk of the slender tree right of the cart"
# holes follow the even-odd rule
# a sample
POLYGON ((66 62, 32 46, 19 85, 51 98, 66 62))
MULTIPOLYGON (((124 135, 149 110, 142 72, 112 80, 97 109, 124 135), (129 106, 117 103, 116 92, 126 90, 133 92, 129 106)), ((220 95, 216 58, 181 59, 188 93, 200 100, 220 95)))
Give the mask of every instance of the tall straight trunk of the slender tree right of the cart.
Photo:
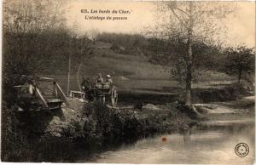
POLYGON ((191 81, 192 81, 192 33, 193 33, 193 4, 189 2, 189 29, 188 29, 188 56, 187 56, 187 75, 186 75, 186 96, 185 104, 191 105, 191 81))

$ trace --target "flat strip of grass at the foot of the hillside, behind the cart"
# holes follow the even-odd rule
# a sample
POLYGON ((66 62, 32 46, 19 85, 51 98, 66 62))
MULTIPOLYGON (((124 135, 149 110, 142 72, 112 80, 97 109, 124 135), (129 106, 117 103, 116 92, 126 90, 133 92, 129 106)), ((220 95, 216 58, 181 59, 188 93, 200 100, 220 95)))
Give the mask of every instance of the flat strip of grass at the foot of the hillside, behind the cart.
MULTIPOLYGON (((43 77, 52 77, 57 80, 64 91, 67 91, 67 75, 43 75, 43 77)), ((96 77, 90 77, 90 80, 95 81, 96 77)), ((79 77, 79 82, 81 82, 79 77)), ((177 89, 183 88, 183 86, 174 80, 157 80, 157 79, 131 79, 127 78, 122 80, 119 77, 113 77, 113 82, 119 88, 119 90, 143 90, 143 91, 154 91, 154 92, 177 92, 177 89)), ((222 88, 225 85, 234 83, 234 80, 228 79, 218 81, 207 81, 193 83, 192 88, 222 88)), ((70 77, 70 89, 79 90, 76 76, 70 77)))

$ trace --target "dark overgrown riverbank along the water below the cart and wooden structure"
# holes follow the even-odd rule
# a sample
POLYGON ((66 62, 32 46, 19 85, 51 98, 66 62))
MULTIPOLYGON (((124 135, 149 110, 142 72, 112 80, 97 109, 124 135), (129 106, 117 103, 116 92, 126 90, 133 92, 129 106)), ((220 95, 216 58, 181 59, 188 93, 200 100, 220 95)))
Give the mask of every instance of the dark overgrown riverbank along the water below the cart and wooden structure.
MULTIPOLYGON (((246 88, 236 84, 228 88, 231 88, 229 93, 219 95, 233 94, 236 97, 230 99, 236 99, 249 94, 246 88)), ((81 154, 89 159, 90 155, 124 143, 134 143, 137 139, 183 132, 195 122, 186 111, 182 111, 182 104, 178 101, 119 108, 81 102, 75 98, 69 98, 68 102, 69 105, 63 105, 57 111, 13 111, 12 117, 16 121, 11 121, 6 128, 19 132, 20 137, 6 140, 18 147, 9 149, 8 143, 3 145, 9 153, 2 154, 2 160, 76 162, 81 154)))

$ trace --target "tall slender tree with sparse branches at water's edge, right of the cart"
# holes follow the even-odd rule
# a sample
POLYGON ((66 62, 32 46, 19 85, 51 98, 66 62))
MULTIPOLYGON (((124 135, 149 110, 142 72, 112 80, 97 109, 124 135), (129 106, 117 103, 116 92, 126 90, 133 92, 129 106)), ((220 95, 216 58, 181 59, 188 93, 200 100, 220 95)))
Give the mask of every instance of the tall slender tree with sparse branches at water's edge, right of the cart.
MULTIPOLYGON (((154 28, 154 36, 177 38, 177 42, 187 45, 185 54, 180 54, 186 68, 185 104, 191 106, 191 83, 193 63, 193 44, 196 41, 212 43, 218 36, 219 20, 232 12, 227 3, 207 2, 160 2, 157 3, 160 20, 154 28)), ((222 26, 224 29, 224 27, 222 26)))

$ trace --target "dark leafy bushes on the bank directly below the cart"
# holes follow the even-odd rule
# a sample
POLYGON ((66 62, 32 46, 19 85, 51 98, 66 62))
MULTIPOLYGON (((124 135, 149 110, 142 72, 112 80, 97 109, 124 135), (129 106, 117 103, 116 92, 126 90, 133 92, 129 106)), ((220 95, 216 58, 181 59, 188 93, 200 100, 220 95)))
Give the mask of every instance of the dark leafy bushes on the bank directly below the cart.
POLYGON ((73 121, 66 136, 83 145, 104 145, 122 139, 130 141, 144 135, 146 120, 135 111, 116 110, 100 104, 84 105, 80 121, 73 121))

